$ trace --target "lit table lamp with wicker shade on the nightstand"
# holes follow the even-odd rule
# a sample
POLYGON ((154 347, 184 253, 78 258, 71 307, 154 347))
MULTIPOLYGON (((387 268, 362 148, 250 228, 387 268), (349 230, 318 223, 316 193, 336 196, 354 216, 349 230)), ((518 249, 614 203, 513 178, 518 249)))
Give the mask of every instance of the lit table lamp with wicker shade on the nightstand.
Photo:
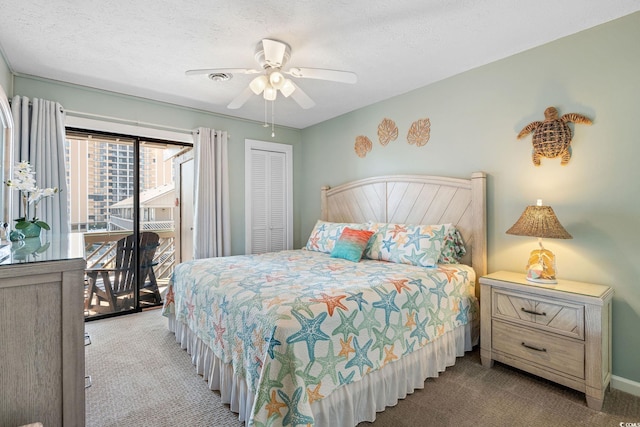
POLYGON ((536 206, 527 206, 518 221, 507 230, 515 236, 538 238, 540 249, 531 251, 527 264, 527 280, 535 283, 553 284, 556 280, 556 257, 542 246, 543 238, 573 239, 564 229, 551 206, 542 206, 538 199, 536 206))

